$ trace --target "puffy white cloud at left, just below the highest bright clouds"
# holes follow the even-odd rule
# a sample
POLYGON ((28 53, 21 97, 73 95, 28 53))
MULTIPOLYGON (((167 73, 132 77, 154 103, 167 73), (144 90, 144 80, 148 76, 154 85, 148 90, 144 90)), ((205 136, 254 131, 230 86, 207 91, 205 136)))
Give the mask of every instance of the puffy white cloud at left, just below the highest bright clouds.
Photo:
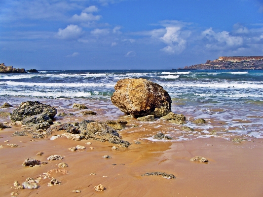
POLYGON ((77 25, 68 25, 65 29, 59 28, 55 38, 78 39, 83 34, 82 28, 77 25))

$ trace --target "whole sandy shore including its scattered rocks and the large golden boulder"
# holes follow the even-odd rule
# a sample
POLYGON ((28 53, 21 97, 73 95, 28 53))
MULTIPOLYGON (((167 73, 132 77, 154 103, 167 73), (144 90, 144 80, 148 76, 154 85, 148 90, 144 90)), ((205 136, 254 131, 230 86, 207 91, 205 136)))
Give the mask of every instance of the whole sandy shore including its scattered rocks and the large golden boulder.
POLYGON ((38 101, 4 103, 0 196, 261 194, 261 185, 255 186, 263 181, 261 139, 225 140, 226 135, 212 130, 222 122, 172 112, 169 93, 157 83, 122 80, 115 90, 112 102, 123 114, 114 119, 87 103, 72 102, 63 109, 38 101), (147 96, 136 101, 138 92, 147 96), (87 109, 96 113, 83 113, 87 109), (178 141, 200 135, 201 124, 207 125, 203 138, 178 141))

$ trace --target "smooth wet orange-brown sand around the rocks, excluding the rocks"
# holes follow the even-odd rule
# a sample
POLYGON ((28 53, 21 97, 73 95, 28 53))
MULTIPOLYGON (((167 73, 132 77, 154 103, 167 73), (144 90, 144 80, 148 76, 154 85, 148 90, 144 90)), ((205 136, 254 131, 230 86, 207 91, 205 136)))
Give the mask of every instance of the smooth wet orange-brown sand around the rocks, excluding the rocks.
MULTIPOLYGON (((90 109, 96 110, 92 106, 90 109)), ((62 110, 59 111, 61 112, 62 110)), ((98 116, 62 117, 56 120, 63 122, 109 119, 107 108, 97 109, 96 112, 98 116)), ((226 140, 224 136, 218 136, 188 141, 154 142, 150 141, 149 137, 157 132, 171 133, 170 123, 162 120, 152 123, 139 122, 134 118, 123 118, 121 113, 118 116, 115 114, 115 119, 128 121, 128 127, 118 133, 123 140, 132 143, 129 148, 119 147, 119 150, 112 150, 112 147, 116 145, 109 142, 73 141, 66 137, 52 141, 49 138, 33 139, 30 135, 11 137, 15 131, 23 130, 20 126, 1 130, 0 145, 17 144, 19 147, 4 146, 0 149, 0 196, 10 197, 11 192, 18 193, 18 197, 263 196, 263 139, 254 138, 234 143, 226 140), (4 140, 9 142, 6 143, 4 140), (136 140, 141 144, 135 144, 136 140), (92 144, 87 145, 86 142, 92 144), (68 150, 77 145, 85 146, 86 149, 75 152, 68 150), (44 152, 44 155, 36 156, 39 151, 44 152), (61 155, 64 159, 48 161, 47 158, 51 155, 61 155), (112 158, 102 158, 104 155, 112 158), (194 156, 205 157, 209 162, 189 161, 194 156), (48 164, 34 167, 22 166, 25 158, 29 157, 48 161, 48 164), (39 187, 35 190, 11 189, 15 180, 22 184, 27 177, 37 178, 50 169, 58 169, 60 162, 66 162, 69 165, 65 168, 68 174, 53 172, 51 175, 61 181, 62 185, 47 186, 50 179, 43 179, 39 180, 39 187), (141 176, 146 172, 155 171, 171 173, 176 176, 176 179, 141 176), (91 173, 96 175, 90 175, 91 173), (95 192, 93 187, 98 184, 102 184, 106 190, 95 192), (80 190, 81 193, 73 193, 72 190, 80 190)), ((210 124, 219 124, 219 122, 211 120, 210 124)), ((55 134, 62 133, 63 131, 55 134)))

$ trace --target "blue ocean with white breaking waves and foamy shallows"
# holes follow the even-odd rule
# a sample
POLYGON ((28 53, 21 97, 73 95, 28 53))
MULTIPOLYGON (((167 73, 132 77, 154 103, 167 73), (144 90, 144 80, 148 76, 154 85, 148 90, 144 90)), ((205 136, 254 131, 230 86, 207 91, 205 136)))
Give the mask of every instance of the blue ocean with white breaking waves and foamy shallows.
MULTIPOLYGON (((112 119, 124 116, 111 102, 114 85, 125 78, 156 82, 172 98, 172 111, 187 117, 195 131, 175 140, 200 137, 263 138, 262 70, 81 70, 0 74, 0 105, 44 102, 67 110, 73 103, 104 108, 112 119), (204 118, 210 124, 193 124, 204 118), (213 131, 213 132, 212 132, 213 131)), ((1 109, 2 110, 2 109, 1 109)), ((159 121, 159 120, 156 120, 159 121)), ((173 135, 172 125, 168 129, 173 135)), ((161 131, 161 130, 160 130, 161 131)), ((152 140, 152 139, 148 139, 152 140)))

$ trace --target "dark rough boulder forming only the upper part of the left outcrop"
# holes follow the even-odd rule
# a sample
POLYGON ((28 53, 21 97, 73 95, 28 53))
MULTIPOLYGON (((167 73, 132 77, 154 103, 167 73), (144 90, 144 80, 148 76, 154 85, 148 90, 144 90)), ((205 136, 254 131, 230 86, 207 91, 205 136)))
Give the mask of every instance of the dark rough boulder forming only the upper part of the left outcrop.
POLYGON ((11 115, 11 120, 13 122, 21 121, 28 117, 40 114, 46 115, 49 118, 53 118, 57 114, 57 109, 52 107, 51 105, 46 105, 38 101, 27 101, 21 103, 20 106, 13 111, 13 114, 11 115))

